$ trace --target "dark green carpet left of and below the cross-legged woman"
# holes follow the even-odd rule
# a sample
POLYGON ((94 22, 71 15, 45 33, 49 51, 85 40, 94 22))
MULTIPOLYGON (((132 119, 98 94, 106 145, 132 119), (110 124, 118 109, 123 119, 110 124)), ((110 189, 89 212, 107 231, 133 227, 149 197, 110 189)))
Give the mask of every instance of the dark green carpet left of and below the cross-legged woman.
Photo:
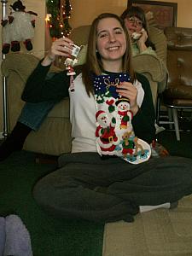
POLYGON ((20 216, 31 235, 34 256, 102 255, 104 225, 52 218, 33 200, 34 183, 54 169, 54 165, 36 164, 35 154, 25 151, 1 162, 0 216, 20 216))

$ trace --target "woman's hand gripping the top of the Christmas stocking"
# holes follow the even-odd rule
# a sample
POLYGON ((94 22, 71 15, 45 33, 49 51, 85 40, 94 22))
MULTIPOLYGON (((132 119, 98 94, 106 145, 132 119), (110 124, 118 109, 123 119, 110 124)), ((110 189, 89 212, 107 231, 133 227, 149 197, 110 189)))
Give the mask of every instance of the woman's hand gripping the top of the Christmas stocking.
POLYGON ((137 88, 130 82, 122 82, 117 85, 117 92, 119 93, 119 96, 128 98, 130 101, 130 109, 135 115, 138 111, 138 105, 137 105, 137 88))

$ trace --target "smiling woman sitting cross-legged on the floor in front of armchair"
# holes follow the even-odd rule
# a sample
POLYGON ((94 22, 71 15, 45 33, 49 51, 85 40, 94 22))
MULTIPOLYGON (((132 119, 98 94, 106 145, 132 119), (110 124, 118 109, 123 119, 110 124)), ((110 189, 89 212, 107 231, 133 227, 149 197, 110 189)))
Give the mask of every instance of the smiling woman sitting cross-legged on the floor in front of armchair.
MULTIPOLYGON (((133 221, 140 206, 174 202, 192 192, 192 160, 151 158, 141 164, 110 155, 102 159, 96 145, 95 78, 128 75, 116 90, 129 99, 135 135, 150 143, 154 138, 154 105, 148 80, 131 67, 131 43, 117 15, 99 15, 90 27, 86 62, 74 78, 74 91, 66 72, 46 79, 55 55, 71 52, 67 38, 56 40, 26 82, 22 99, 28 102, 70 96, 72 153, 63 154, 59 169, 38 181, 33 195, 45 212, 59 218, 91 221, 133 221), (68 85, 67 85, 68 84, 68 85)), ((112 100, 112 99, 111 99, 112 100)), ((111 101, 110 101, 111 102, 111 101)), ((111 108, 110 108, 111 109, 111 108)), ((100 110, 102 112, 102 110, 100 110)), ((100 112, 100 113, 101 113, 100 112)), ((101 114, 100 114, 101 115, 101 114)), ((105 115, 102 115, 105 120, 105 115)))

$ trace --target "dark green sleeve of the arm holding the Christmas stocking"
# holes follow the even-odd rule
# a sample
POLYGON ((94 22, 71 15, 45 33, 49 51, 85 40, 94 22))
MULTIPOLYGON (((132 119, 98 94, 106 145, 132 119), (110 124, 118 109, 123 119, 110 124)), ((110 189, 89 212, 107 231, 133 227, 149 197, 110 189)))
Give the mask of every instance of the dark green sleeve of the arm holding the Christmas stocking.
POLYGON ((137 79, 142 84, 145 94, 141 108, 133 116, 133 130, 137 137, 151 143, 155 137, 155 113, 150 84, 148 83, 148 79, 141 74, 137 73, 137 79))

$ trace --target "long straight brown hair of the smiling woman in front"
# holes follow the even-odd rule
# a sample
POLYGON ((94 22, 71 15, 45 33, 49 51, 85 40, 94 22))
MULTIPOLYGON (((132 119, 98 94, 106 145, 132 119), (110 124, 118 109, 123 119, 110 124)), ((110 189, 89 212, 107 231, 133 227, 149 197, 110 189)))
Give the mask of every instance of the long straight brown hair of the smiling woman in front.
POLYGON ((101 75, 103 73, 100 55, 99 53, 96 53, 96 30, 99 21, 106 18, 113 18, 118 20, 125 32, 126 50, 125 54, 123 55, 122 72, 130 74, 131 82, 135 80, 135 73, 131 65, 131 42, 124 24, 124 20, 121 20, 118 15, 103 13, 102 15, 99 15, 95 20, 93 20, 92 25, 90 26, 86 62, 82 69, 83 82, 88 96, 94 93, 91 74, 95 73, 96 75, 101 75))

